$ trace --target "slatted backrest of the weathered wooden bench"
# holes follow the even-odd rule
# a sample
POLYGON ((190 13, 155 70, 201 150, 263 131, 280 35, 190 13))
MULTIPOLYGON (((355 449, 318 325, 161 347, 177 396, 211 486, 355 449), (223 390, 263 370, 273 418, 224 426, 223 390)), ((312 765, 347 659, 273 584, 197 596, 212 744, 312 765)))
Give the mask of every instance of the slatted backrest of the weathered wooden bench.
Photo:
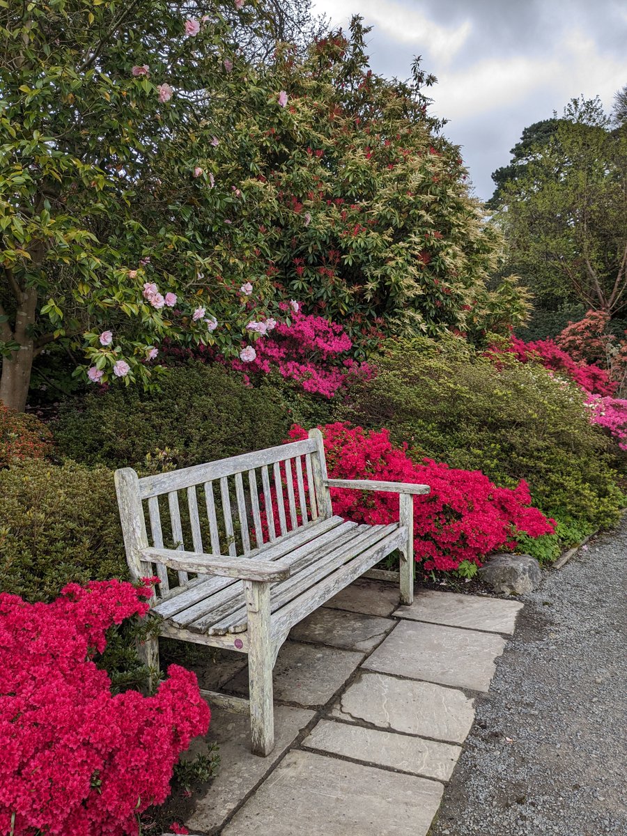
MULTIPOLYGON (((176 585, 160 563, 145 563, 140 549, 251 556, 265 543, 332 514, 319 430, 308 439, 204 465, 139 478, 130 467, 115 472, 126 557, 133 579, 161 579, 159 593, 176 585), (260 497, 261 494, 261 497, 260 497), (149 534, 150 531, 150 534, 149 534)), ((191 581, 178 573, 178 585, 191 581)))

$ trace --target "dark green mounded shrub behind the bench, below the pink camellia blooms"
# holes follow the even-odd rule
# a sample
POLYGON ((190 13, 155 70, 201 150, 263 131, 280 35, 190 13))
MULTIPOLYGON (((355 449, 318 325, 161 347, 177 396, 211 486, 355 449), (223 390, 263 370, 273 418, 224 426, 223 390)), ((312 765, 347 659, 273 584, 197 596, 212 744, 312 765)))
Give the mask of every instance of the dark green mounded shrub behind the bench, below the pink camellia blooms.
POLYGON ((66 400, 53 427, 59 451, 114 469, 146 472, 163 458, 170 468, 186 467, 280 444, 293 421, 280 391, 247 386, 220 364, 177 366, 160 386, 111 387, 66 400))

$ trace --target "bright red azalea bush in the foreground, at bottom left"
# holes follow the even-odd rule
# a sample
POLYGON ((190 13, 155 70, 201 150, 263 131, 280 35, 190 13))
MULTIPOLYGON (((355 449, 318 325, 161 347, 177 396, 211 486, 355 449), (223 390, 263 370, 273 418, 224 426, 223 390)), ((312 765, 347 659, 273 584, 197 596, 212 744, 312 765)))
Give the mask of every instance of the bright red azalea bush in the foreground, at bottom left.
POLYGON ((51 604, 0 594, 0 833, 135 834, 136 814, 170 793, 209 725, 196 676, 171 665, 155 696, 112 696, 93 661, 149 596, 116 580, 69 584, 51 604))

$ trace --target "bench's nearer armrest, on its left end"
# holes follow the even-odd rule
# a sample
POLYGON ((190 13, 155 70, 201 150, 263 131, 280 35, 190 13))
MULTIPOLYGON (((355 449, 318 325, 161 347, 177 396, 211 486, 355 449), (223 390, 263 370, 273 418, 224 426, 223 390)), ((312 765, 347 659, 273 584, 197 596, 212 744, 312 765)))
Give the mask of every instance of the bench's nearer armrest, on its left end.
POLYGON ((163 563, 179 572, 220 575, 222 578, 274 581, 289 578, 287 560, 233 558, 225 554, 184 552, 175 548, 142 548, 140 560, 163 563))

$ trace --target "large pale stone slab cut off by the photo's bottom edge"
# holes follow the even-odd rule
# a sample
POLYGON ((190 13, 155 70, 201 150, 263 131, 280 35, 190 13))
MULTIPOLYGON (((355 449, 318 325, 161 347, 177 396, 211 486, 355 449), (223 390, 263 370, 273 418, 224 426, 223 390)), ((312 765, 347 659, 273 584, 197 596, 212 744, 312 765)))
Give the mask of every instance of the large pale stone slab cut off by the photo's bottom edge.
POLYGON ((288 752, 223 836, 425 836, 441 783, 288 752))

